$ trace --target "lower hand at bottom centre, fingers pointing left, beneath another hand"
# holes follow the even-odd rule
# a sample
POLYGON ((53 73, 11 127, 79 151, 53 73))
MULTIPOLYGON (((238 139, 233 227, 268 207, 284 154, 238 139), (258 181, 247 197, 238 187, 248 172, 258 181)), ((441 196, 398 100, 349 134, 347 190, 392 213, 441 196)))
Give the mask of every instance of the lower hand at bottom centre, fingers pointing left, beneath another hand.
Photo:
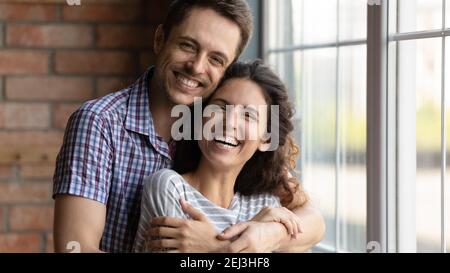
POLYGON ((279 248, 286 237, 286 228, 276 222, 241 222, 231 226, 219 235, 221 240, 233 240, 227 252, 231 253, 267 253, 279 248))

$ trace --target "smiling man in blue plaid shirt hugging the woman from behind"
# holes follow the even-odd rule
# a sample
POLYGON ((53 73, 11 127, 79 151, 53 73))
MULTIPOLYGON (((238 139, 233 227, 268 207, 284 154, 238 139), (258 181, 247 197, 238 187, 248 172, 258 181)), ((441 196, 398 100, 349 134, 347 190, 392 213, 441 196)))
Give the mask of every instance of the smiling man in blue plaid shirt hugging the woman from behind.
MULTIPOLYGON (((172 107, 210 96, 251 32, 251 13, 244 0, 174 1, 155 34, 155 66, 129 88, 87 102, 71 116, 54 176, 57 252, 68 251, 71 241, 78 242, 82 252, 131 251, 143 180, 172 165, 172 107)), ((186 232, 176 239, 192 246, 186 251, 198 251, 205 221, 192 207, 186 213, 193 219, 157 221, 172 228, 183 226, 186 232)), ((229 232, 241 234, 239 249, 251 245, 245 249, 306 250, 323 236, 323 219, 310 204, 295 213, 304 229, 298 240, 290 240, 281 224, 269 230, 267 240, 260 240, 261 231, 268 232, 263 221, 229 232)), ((170 230, 158 233, 171 237, 170 230)), ((229 239, 227 235, 223 240, 229 239)), ((239 251, 229 250, 233 249, 239 251)))

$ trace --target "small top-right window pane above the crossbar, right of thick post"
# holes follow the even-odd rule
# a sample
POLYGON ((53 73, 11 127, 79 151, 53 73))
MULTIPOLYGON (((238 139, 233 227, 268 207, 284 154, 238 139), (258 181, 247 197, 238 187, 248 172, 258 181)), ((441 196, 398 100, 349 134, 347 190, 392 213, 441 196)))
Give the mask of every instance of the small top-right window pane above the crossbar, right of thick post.
POLYGON ((395 8, 395 2, 399 32, 442 29, 442 0, 390 1, 390 8, 395 8))

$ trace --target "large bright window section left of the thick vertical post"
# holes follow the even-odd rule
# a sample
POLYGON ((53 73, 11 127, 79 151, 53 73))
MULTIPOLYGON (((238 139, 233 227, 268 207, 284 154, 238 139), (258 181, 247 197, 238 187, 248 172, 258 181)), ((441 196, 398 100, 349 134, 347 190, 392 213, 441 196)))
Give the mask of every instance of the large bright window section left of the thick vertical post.
POLYGON ((291 91, 301 180, 326 219, 317 250, 363 252, 367 5, 268 0, 265 10, 265 58, 291 91))

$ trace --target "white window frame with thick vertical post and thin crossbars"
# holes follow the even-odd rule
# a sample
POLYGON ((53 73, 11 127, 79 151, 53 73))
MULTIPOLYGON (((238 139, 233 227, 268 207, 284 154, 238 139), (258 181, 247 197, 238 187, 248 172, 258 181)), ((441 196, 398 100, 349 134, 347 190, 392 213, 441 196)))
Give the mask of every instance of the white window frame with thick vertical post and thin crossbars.
MULTIPOLYGON (((337 15, 339 22, 339 0, 337 15)), ((267 37, 263 35, 262 52, 267 61, 274 52, 291 52, 317 48, 339 48, 342 46, 367 44, 367 244, 378 245, 381 252, 415 252, 415 182, 416 182, 416 140, 411 136, 416 133, 415 96, 397 91, 396 80, 399 78, 397 56, 389 56, 390 42, 411 39, 442 37, 442 94, 441 94, 441 252, 446 250, 446 203, 445 203, 445 38, 450 36, 450 29, 445 28, 446 4, 442 0, 442 29, 434 31, 417 31, 411 33, 389 34, 389 0, 368 0, 367 40, 352 40, 323 44, 291 46, 285 48, 268 48, 267 37), (397 66, 394 73, 388 68, 397 66), (401 102, 401 103, 400 103, 401 102), (412 118, 413 117, 413 118, 412 118), (401 122, 398 122, 401 121, 401 122)), ((263 18, 267 18, 267 1, 263 1, 263 18)), ((266 33, 267 20, 263 21, 263 33, 266 33)), ((338 28, 339 29, 339 28, 338 28)), ((337 31, 339 35, 339 31, 337 31)), ((402 53, 400 53, 402 54, 402 53)), ((338 68, 338 65, 336 65, 338 68)), ((336 69, 336 75, 339 74, 336 69)), ((400 77, 401 78, 401 77, 400 77)), ((339 77, 336 78, 337 80, 339 77)), ((336 84, 338 87, 339 84, 336 84)), ((339 98, 339 88, 336 89, 339 98)), ((337 102, 338 103, 338 99, 337 102)), ((339 111, 337 111, 337 114, 339 111)), ((296 117, 298 120, 299 117, 296 117)), ((339 117, 337 116, 337 120, 339 117)), ((336 126, 338 127, 338 124, 336 126)), ((336 131, 336 143, 339 130, 336 131)), ((336 172, 339 169, 339 145, 336 145, 336 172)), ((336 175, 336 192, 339 192, 339 175, 336 175)), ((334 246, 319 244, 316 250, 322 252, 345 252, 339 248, 339 198, 336 196, 334 246)))

